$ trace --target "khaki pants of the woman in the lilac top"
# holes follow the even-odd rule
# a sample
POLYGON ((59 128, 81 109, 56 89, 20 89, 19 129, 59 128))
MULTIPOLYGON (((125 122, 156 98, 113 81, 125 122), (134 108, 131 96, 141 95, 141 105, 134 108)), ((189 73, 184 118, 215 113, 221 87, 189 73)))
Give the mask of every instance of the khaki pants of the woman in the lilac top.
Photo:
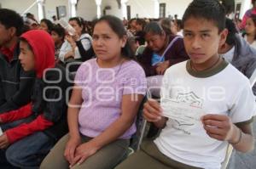
MULTIPOLYGON (((55 144, 42 162, 40 169, 65 169, 69 168, 69 163, 64 157, 69 135, 65 135, 55 144)), ((91 138, 82 136, 83 143, 88 142, 91 138)), ((73 166, 72 169, 113 169, 114 166, 124 160, 127 155, 129 140, 119 139, 111 144, 99 149, 95 155, 90 156, 79 166, 73 166)))

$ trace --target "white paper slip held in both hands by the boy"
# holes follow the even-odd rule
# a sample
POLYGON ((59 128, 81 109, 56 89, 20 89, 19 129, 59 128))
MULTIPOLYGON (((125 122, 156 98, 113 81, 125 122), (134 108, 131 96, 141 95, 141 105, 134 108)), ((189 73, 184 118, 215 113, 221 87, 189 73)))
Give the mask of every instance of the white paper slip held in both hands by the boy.
POLYGON ((196 123, 200 122, 201 116, 205 114, 199 107, 192 106, 189 103, 178 103, 172 99, 161 99, 160 105, 163 109, 163 115, 172 120, 196 123))

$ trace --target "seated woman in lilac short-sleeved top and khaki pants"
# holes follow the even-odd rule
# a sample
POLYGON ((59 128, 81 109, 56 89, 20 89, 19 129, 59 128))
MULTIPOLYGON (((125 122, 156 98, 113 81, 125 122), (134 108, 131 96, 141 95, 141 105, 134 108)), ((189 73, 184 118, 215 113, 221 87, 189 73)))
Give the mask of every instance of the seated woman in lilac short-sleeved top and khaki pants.
POLYGON ((96 59, 79 67, 67 112, 69 133, 40 168, 110 169, 125 158, 146 90, 143 68, 132 58, 122 21, 96 21, 96 59))

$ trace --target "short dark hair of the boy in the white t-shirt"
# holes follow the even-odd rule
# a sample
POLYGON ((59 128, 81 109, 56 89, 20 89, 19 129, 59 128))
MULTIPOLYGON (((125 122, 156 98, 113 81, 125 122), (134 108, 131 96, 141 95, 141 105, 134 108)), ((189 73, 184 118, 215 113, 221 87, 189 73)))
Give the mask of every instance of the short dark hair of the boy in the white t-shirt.
POLYGON ((218 0, 194 0, 183 14, 183 24, 191 17, 212 21, 218 32, 225 28, 225 9, 218 0))

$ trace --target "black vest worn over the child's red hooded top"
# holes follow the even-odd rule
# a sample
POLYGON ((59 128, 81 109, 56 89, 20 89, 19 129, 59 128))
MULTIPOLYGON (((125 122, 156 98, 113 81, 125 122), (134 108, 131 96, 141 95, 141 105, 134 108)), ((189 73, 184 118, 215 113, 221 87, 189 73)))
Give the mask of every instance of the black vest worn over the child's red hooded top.
POLYGON ((54 141, 68 132, 67 102, 71 85, 71 82, 67 82, 66 70, 61 65, 55 65, 55 69, 46 71, 43 79, 36 79, 33 88, 33 115, 36 118, 43 114, 45 119, 54 123, 52 127, 44 130, 54 141))

